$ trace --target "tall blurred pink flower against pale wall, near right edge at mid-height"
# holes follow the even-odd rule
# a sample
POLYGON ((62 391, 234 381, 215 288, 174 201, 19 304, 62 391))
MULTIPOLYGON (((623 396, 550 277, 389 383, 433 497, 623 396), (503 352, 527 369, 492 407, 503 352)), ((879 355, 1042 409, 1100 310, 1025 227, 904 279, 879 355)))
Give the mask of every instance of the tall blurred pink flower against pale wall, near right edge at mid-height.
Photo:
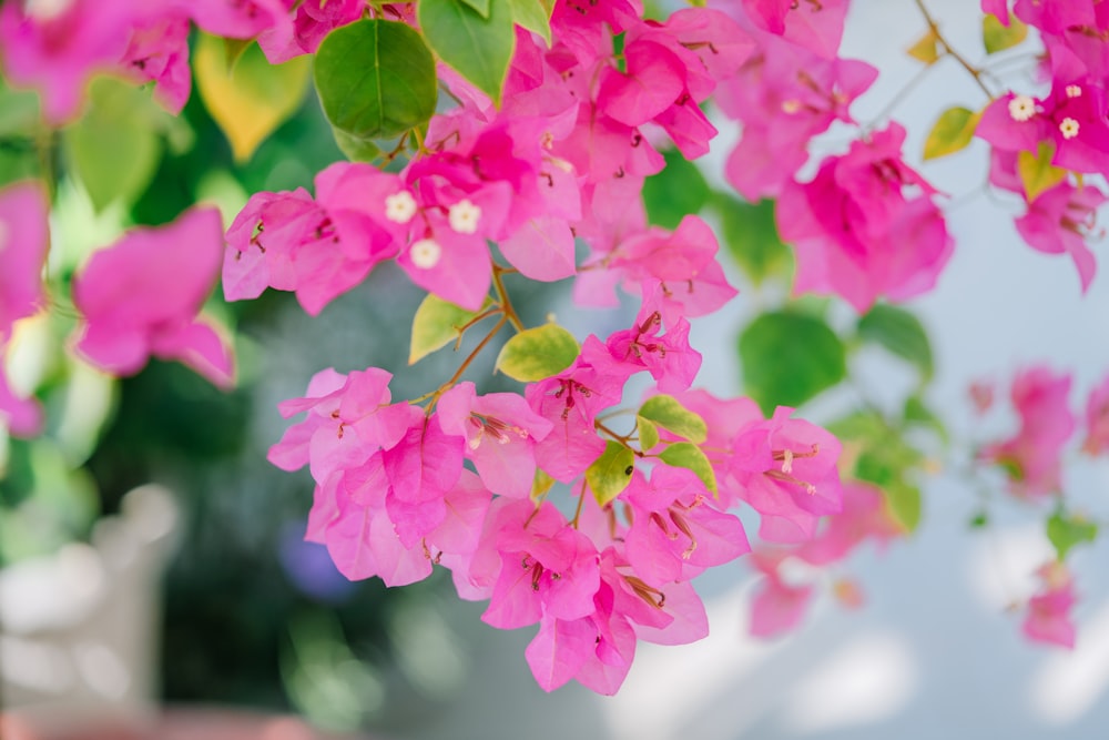
POLYGON ((1017 496, 1036 498, 1059 490, 1062 446, 1077 426, 1067 405, 1069 394, 1070 375, 1055 375, 1046 367, 1031 367, 1014 378, 1010 398, 1020 428, 987 446, 980 457, 1008 473, 1017 496))

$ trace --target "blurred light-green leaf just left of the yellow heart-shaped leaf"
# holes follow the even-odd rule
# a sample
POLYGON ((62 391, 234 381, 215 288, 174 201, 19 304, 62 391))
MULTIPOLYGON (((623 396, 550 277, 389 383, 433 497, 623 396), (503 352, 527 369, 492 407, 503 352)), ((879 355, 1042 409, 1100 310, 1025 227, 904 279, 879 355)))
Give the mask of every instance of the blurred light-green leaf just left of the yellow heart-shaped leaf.
POLYGON ((132 85, 93 81, 84 116, 62 132, 70 166, 99 212, 116 201, 130 206, 150 184, 162 158, 154 103, 132 85))

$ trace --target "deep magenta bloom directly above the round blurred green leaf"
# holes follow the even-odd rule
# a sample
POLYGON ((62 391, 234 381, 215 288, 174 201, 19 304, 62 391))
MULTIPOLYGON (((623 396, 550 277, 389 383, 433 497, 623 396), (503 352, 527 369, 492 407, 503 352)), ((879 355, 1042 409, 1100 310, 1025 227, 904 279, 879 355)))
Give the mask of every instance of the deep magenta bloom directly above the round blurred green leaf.
POLYGON ((901 160, 904 140, 892 123, 784 189, 776 220, 796 252, 795 292, 835 293, 863 312, 878 296, 904 301, 935 285, 954 242, 935 190, 901 160))

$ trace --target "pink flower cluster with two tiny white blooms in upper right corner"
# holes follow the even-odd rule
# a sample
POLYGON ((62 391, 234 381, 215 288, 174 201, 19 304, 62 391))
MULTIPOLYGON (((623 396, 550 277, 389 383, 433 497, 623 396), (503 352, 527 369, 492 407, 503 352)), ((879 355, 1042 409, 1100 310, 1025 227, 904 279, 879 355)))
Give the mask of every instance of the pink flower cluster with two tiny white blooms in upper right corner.
MULTIPOLYGON (((981 8, 1008 26, 1008 4, 983 0, 981 8)), ((994 100, 983 111, 976 135, 994 150, 990 183, 1027 202, 1016 220, 1020 235, 1040 252, 1069 254, 1086 291, 1096 270, 1087 242, 1102 233, 1097 210, 1109 197, 1082 178, 1109 175, 1109 18, 1095 0, 1017 0, 1011 13, 1039 31, 1046 50, 1041 72, 1050 90, 1042 98, 1010 91, 994 100), (1046 156, 1059 168, 1050 186, 1028 187, 1018 170, 1020 156, 1046 156)))

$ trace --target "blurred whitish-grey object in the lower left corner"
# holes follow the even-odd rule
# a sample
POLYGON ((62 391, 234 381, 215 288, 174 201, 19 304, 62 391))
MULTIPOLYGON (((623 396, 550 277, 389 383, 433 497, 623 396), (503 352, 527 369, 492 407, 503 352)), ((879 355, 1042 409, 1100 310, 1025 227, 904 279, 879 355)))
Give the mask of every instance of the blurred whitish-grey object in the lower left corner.
POLYGON ((157 585, 177 507, 156 485, 130 491, 92 544, 0 570, 6 709, 145 716, 157 695, 157 585))

